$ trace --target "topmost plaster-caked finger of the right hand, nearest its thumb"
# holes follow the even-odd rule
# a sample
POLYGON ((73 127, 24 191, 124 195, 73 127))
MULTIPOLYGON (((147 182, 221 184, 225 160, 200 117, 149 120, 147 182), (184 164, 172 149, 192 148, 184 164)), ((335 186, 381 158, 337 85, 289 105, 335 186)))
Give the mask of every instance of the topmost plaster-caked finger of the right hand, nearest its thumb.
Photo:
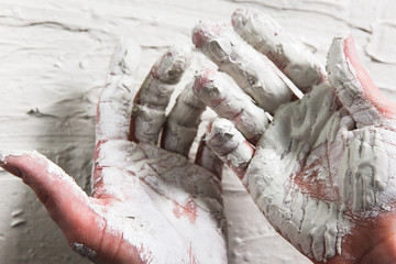
POLYGON ((258 10, 238 9, 231 21, 237 33, 266 55, 302 92, 326 79, 324 69, 314 54, 285 34, 270 15, 258 10))

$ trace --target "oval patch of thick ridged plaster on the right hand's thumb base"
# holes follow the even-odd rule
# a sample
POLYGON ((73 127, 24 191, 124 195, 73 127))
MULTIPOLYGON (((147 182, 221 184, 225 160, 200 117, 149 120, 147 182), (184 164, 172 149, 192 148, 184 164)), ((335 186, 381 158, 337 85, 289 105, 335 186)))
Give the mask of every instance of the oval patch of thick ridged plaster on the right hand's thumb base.
POLYGON ((370 210, 388 180, 388 155, 381 133, 367 128, 344 150, 338 170, 340 194, 354 211, 370 210))

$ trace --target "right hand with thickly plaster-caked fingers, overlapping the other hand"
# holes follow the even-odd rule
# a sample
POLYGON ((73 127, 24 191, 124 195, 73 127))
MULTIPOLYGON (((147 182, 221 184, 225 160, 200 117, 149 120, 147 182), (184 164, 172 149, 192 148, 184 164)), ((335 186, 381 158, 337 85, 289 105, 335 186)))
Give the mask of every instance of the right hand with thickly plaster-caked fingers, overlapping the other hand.
POLYGON ((196 76, 196 94, 226 118, 209 125, 207 144, 315 263, 396 262, 396 107, 360 64, 352 37, 333 40, 326 76, 264 14, 237 10, 232 23, 273 63, 219 24, 196 26, 196 46, 233 79, 210 69, 196 76))

